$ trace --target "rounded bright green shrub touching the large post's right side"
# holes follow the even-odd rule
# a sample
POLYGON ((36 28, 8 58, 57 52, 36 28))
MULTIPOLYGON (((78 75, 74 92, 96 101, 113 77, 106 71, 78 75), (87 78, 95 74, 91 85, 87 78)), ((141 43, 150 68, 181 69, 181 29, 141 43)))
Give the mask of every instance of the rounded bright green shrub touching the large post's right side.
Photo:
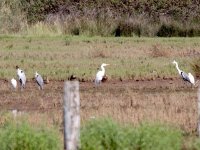
POLYGON ((131 149, 134 146, 130 140, 134 136, 132 132, 109 119, 93 120, 81 129, 81 149, 131 149))

